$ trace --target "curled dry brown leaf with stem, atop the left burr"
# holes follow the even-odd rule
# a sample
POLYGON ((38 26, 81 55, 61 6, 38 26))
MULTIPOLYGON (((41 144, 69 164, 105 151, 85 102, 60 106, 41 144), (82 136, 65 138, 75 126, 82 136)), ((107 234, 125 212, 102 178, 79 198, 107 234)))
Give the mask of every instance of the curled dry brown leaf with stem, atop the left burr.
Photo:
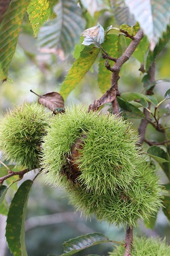
MULTIPOLYGON (((35 94, 34 91, 30 91, 35 94)), ((38 94, 35 95, 39 96, 38 94)), ((58 92, 55 91, 51 91, 48 92, 48 94, 39 96, 38 102, 39 104, 46 106, 46 108, 50 109, 51 111, 54 111, 54 109, 57 108, 64 108, 65 106, 64 99, 61 94, 58 94, 58 92)))

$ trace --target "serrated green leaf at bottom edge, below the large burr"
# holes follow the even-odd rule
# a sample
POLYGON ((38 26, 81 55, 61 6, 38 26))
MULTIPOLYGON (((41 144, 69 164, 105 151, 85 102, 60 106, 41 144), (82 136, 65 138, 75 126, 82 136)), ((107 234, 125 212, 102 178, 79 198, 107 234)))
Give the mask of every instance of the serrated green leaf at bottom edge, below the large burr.
POLYGON ((84 236, 79 236, 78 238, 70 239, 63 244, 64 253, 61 256, 70 256, 84 250, 85 248, 104 242, 109 242, 109 238, 103 235, 103 233, 89 233, 84 236))

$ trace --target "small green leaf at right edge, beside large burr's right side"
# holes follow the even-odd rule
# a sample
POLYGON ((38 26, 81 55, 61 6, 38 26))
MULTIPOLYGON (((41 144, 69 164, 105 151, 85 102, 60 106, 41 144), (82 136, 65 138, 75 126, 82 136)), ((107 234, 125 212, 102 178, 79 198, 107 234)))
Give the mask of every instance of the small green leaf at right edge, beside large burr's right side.
POLYGON ((165 152, 162 147, 153 145, 148 148, 147 153, 160 165, 163 164, 163 162, 169 162, 169 154, 165 152))

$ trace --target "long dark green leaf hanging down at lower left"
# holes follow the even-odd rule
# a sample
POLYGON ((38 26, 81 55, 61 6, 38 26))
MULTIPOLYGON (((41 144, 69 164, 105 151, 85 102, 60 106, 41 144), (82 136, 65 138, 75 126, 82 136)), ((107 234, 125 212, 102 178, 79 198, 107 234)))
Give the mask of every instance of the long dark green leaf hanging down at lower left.
POLYGON ((10 251, 14 255, 27 256, 24 243, 24 221, 26 216, 27 201, 33 182, 26 180, 18 188, 7 215, 6 239, 10 251))

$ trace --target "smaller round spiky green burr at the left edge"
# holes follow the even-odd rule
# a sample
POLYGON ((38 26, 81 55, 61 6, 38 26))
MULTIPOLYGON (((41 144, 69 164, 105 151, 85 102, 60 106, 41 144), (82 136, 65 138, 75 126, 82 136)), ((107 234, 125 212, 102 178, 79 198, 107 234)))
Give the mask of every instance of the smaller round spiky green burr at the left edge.
POLYGON ((48 124, 43 106, 24 102, 1 120, 0 149, 17 165, 30 170, 38 168, 41 142, 48 124))

